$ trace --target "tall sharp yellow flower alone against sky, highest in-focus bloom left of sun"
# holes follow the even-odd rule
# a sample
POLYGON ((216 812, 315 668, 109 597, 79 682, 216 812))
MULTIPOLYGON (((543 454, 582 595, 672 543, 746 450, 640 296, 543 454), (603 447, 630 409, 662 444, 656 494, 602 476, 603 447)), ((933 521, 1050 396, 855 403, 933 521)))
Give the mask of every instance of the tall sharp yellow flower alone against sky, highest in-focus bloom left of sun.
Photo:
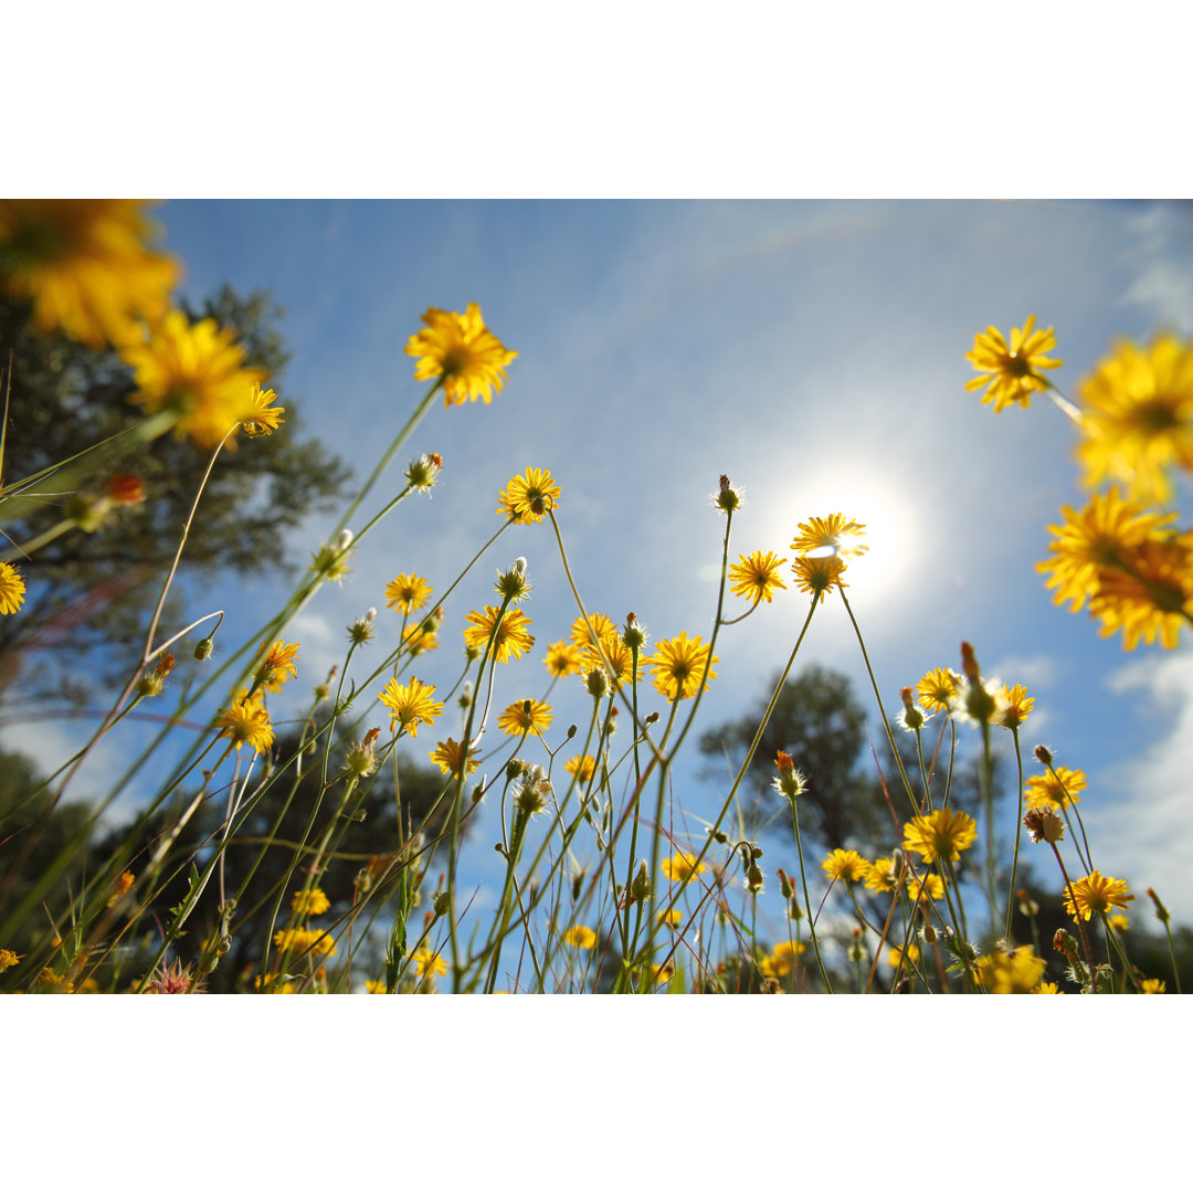
POLYGON ((428 307, 426 328, 410 336, 406 354, 418 358, 415 381, 443 378, 444 406, 460 406, 478 397, 488 406, 501 392, 506 366, 518 356, 502 346, 484 326, 481 308, 469 303, 463 315, 428 307))

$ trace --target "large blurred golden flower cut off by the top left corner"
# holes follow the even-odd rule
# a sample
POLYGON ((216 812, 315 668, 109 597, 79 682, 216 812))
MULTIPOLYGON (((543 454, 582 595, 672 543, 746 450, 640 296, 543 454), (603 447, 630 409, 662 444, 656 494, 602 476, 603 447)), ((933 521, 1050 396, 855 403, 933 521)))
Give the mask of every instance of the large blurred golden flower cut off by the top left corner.
POLYGON ((0 199, 0 283, 32 299, 33 324, 93 348, 161 319, 178 264, 146 248, 154 230, 137 199, 0 199))

